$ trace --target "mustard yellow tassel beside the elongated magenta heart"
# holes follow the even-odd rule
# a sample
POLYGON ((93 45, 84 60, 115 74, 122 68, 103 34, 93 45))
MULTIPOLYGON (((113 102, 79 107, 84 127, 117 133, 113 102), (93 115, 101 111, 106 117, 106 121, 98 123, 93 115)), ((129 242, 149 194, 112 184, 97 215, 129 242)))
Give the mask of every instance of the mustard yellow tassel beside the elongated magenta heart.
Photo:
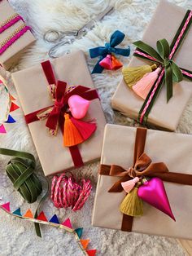
POLYGON ((137 196, 137 189, 133 188, 120 204, 120 211, 123 214, 133 217, 142 216, 142 199, 137 196))

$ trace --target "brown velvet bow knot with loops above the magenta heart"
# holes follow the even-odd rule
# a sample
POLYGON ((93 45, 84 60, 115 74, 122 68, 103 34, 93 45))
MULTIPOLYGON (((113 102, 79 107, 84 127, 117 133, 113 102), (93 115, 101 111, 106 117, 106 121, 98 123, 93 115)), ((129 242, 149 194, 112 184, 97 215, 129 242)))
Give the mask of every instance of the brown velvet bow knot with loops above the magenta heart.
POLYGON ((122 182, 129 182, 132 178, 149 176, 149 177, 161 177, 161 174, 167 174, 168 167, 164 162, 152 163, 151 158, 142 153, 142 156, 137 159, 135 165, 128 170, 121 166, 112 165, 109 175, 122 177, 109 189, 108 192, 122 192, 122 182))

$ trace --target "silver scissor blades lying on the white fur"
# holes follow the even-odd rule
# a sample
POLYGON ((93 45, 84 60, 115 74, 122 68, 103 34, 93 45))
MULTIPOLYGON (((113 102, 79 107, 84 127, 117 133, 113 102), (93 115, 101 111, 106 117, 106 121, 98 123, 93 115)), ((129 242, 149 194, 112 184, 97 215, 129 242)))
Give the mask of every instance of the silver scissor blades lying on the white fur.
POLYGON ((98 20, 102 20, 105 15, 110 14, 112 11, 114 11, 114 7, 107 7, 103 12, 99 13, 96 18, 94 18, 93 20, 90 20, 87 24, 85 24, 85 26, 83 26, 81 29, 79 29, 79 32, 78 32, 78 35, 76 36, 76 38, 77 39, 81 38, 83 35, 85 35, 85 33, 89 29, 92 29, 94 27, 95 22, 97 22, 98 20))

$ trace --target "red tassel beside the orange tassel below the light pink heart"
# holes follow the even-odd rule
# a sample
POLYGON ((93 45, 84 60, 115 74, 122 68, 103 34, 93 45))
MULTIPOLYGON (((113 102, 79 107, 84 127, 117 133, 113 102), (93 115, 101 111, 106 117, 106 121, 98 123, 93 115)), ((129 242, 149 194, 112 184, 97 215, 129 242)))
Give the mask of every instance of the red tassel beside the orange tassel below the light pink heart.
POLYGON ((79 131, 84 141, 86 139, 89 139, 89 137, 93 135, 94 131, 97 128, 95 123, 76 120, 76 118, 73 118, 73 117, 71 117, 70 119, 73 125, 76 126, 76 129, 79 131))

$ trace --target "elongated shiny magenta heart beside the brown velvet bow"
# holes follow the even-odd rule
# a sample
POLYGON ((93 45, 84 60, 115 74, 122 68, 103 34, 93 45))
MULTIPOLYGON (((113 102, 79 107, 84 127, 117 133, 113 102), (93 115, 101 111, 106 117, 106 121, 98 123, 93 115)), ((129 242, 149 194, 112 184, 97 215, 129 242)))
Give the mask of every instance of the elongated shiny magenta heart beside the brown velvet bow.
POLYGON ((176 220, 172 214, 168 196, 164 188, 164 183, 161 179, 150 179, 138 188, 137 195, 142 198, 143 201, 146 201, 148 204, 154 206, 164 214, 167 214, 174 221, 176 220))

